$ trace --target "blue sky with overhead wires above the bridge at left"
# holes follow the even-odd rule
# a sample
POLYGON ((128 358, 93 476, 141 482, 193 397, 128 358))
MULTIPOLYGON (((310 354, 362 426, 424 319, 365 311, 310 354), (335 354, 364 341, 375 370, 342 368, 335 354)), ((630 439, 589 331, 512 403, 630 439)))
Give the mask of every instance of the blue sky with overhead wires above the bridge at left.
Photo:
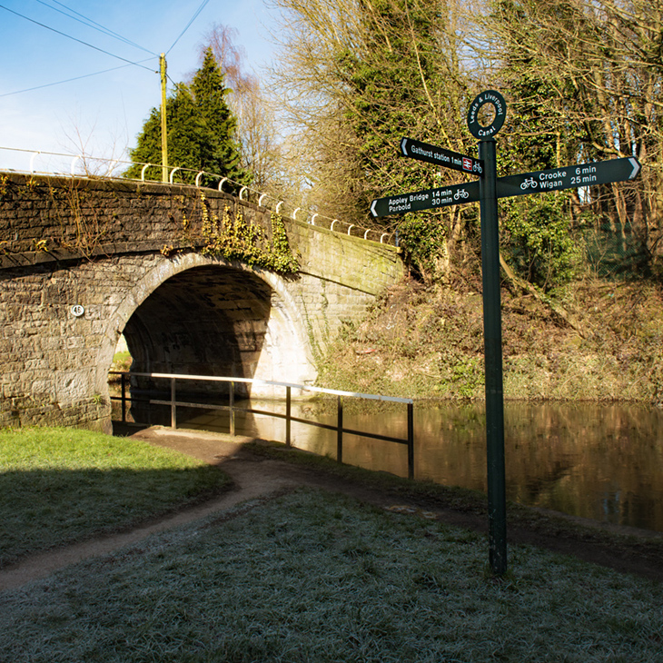
MULTIPOLYGON (((0 148, 123 158, 160 104, 160 53, 180 82, 199 65, 203 35, 223 24, 260 75, 272 59, 269 18, 264 0, 0 0, 0 148), (67 16, 74 12, 126 41, 67 16), (68 79, 78 80, 49 85, 68 79), (21 92, 29 88, 38 89, 21 92)), ((35 159, 40 170, 45 157, 35 159)), ((29 170, 30 160, 0 149, 0 170, 29 170)))

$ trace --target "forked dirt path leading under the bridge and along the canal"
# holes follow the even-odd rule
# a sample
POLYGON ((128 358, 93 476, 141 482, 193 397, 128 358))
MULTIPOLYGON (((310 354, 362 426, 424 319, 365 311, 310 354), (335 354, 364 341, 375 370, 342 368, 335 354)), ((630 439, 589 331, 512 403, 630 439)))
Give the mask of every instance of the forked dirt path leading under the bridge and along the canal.
MULTIPOLYGON (((256 456, 243 448, 243 444, 252 441, 252 438, 230 438, 203 431, 170 430, 160 427, 142 430, 133 437, 182 451, 194 458, 223 467, 223 471, 233 480, 233 488, 203 504, 179 510, 141 527, 89 539, 61 549, 48 550, 23 559, 15 565, 0 570, 0 590, 19 588, 31 580, 45 578, 57 569, 63 569, 83 559, 108 554, 155 532, 186 524, 217 511, 232 509, 247 500, 271 499, 284 491, 294 490, 300 486, 342 492, 382 508, 395 506, 394 498, 381 490, 350 480, 339 480, 321 471, 256 456)), ((416 500, 411 501, 408 506, 432 511, 438 520, 467 529, 485 531, 487 528, 485 519, 472 513, 440 509, 430 502, 417 503, 416 500)), ((592 527, 597 526, 594 524, 592 527)), ((638 536, 638 531, 624 533, 638 536)), ((639 534, 642 536, 643 533, 639 534)), ((647 538, 651 537, 658 538, 658 535, 647 534, 647 538)), ((663 539, 663 536, 660 538, 663 539)), ((575 555, 580 559, 622 572, 663 580, 663 559, 652 559, 647 549, 643 550, 642 554, 638 554, 638 545, 625 551, 600 543, 592 544, 587 539, 579 540, 559 534, 552 536, 522 527, 511 527, 509 539, 510 542, 530 543, 541 548, 575 555)))

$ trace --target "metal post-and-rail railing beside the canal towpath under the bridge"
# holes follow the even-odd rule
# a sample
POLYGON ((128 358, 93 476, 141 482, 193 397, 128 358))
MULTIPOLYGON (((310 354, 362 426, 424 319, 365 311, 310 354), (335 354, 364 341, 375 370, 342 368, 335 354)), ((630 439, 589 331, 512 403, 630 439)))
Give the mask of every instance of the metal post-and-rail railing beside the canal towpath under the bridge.
MULTIPOLYGON (((235 413, 236 412, 246 412, 250 414, 261 414, 268 417, 273 417, 275 419, 285 420, 285 446, 292 446, 291 439, 291 424, 302 423, 309 426, 314 426, 316 428, 322 428, 325 430, 335 430, 336 431, 336 460, 338 462, 343 461, 343 434, 347 433, 348 435, 358 435, 364 438, 370 438, 371 440, 383 440, 387 442, 396 442, 398 444, 405 444, 408 447, 408 478, 414 478, 414 401, 407 398, 397 398, 395 396, 381 396, 378 394, 368 394, 368 393, 358 393, 354 391, 338 391, 333 389, 323 389, 322 387, 310 387, 303 384, 292 384, 290 382, 274 382, 269 380, 256 380, 252 378, 222 378, 209 375, 183 375, 175 373, 140 373, 134 371, 110 371, 111 375, 120 375, 121 379, 121 395, 120 396, 111 396, 112 401, 122 401, 122 421, 126 422, 126 403, 131 402, 132 398, 127 397, 126 391, 126 378, 127 376, 131 377, 143 377, 143 378, 154 378, 154 379, 164 379, 170 381, 171 387, 171 397, 170 400, 164 401, 161 399, 145 399, 142 402, 146 402, 151 405, 169 405, 171 408, 171 428, 177 428, 177 408, 178 407, 187 407, 187 408, 199 408, 204 410, 219 410, 219 411, 229 411, 230 412, 230 424, 229 432, 231 435, 235 434, 235 413), (177 380, 189 380, 189 381, 209 381, 209 382, 227 382, 228 386, 228 405, 219 405, 215 403, 201 403, 201 402, 190 402, 190 401, 178 401, 177 400, 177 390, 176 390, 176 381, 177 380), (235 383, 245 383, 245 384, 254 384, 259 386, 273 386, 281 387, 285 390, 285 414, 281 412, 272 412, 272 411, 263 411, 263 410, 254 410, 252 408, 242 408, 238 407, 234 403, 234 386, 235 383), (329 394, 331 396, 336 396, 336 423, 321 423, 320 421, 312 421, 309 419, 301 419, 300 417, 292 416, 292 390, 300 391, 312 391, 313 393, 329 394), (407 438, 396 438, 391 437, 390 435, 381 435, 378 433, 371 433, 365 430, 352 430, 345 428, 343 425, 343 399, 344 398, 358 398, 366 399, 370 401, 387 401, 402 403, 407 406, 408 411, 408 433, 407 438)), ((134 399, 135 401, 136 399, 134 399)))

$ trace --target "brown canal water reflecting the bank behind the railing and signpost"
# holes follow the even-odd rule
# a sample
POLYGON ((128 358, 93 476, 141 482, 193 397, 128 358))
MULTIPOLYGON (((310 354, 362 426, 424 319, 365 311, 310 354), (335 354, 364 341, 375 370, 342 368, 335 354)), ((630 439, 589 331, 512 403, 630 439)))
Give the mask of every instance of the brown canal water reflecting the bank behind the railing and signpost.
MULTIPOLYGON (((240 407, 284 412, 276 401, 240 407)), ((334 424, 335 401, 293 402, 292 415, 334 424)), ((180 420, 182 421, 182 420, 180 420)), ((407 436, 406 406, 346 401, 344 427, 407 436)), ((228 431, 228 414, 205 412, 187 428, 228 431)), ((238 434, 284 440, 282 420, 238 414, 238 434)), ((475 403, 414 406, 415 479, 486 491, 485 411, 475 403)), ((292 445, 336 454, 336 433, 292 423, 292 445)), ((592 520, 663 531, 663 411, 631 404, 505 403, 507 499, 592 520)), ((343 460, 407 476, 404 445, 352 435, 343 460)))

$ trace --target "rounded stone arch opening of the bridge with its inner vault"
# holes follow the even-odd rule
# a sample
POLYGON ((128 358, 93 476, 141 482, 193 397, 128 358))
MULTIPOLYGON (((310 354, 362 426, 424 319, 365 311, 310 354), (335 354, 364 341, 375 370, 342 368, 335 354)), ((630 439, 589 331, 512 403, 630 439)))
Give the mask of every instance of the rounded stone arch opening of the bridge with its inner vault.
MULTIPOLYGON (((111 319, 97 363, 98 389, 107 389, 122 333, 134 371, 311 383, 309 336, 287 286, 273 272, 195 252, 157 259, 111 319)), ((204 390, 202 383, 197 388, 204 390)), ((238 391, 282 396, 271 387, 238 391)))

